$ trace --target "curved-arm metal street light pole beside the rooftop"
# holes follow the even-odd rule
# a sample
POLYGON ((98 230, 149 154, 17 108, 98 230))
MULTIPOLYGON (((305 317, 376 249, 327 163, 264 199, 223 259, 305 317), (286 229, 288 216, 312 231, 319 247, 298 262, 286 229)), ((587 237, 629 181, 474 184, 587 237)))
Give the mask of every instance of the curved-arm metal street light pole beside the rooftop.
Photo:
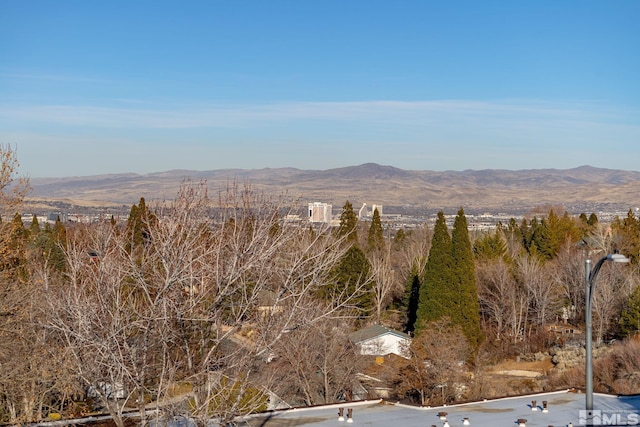
POLYGON ((600 268, 606 261, 611 262, 629 262, 629 258, 621 254, 609 254, 602 257, 591 270, 591 260, 587 259, 585 266, 585 394, 586 394, 586 410, 587 425, 593 425, 593 334, 592 334, 592 313, 591 303, 593 301, 593 290, 596 283, 596 277, 600 272, 600 268))

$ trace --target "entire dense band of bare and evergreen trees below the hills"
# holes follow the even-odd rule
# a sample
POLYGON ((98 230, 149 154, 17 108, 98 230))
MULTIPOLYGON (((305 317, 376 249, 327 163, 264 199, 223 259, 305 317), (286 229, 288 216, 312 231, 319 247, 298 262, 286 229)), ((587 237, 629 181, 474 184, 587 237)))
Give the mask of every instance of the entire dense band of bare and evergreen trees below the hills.
POLYGON ((603 224, 549 209, 470 234, 463 209, 451 231, 444 212, 390 230, 347 201, 338 227, 310 229, 248 186, 212 198, 185 182, 172 201, 141 198, 126 223, 24 224, 28 183, 0 148, 2 422, 100 408, 120 426, 126 408, 143 423, 149 409, 227 422, 276 396, 350 399, 367 360, 348 334, 373 323, 414 335, 386 373, 395 396, 451 402, 487 348, 534 350, 549 326, 580 327, 584 259, 614 251, 632 263, 601 271, 596 338, 640 328, 631 210, 603 224))

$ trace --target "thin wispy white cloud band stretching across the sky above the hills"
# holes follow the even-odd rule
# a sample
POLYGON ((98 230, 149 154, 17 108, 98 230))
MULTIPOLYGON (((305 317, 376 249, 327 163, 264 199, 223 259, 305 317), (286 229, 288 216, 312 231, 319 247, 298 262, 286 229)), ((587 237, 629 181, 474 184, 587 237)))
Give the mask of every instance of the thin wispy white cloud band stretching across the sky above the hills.
POLYGON ((262 126, 280 122, 377 122, 385 125, 447 126, 449 124, 512 127, 615 123, 637 127, 637 111, 594 104, 536 101, 363 101, 288 102, 254 105, 178 106, 144 109, 91 105, 1 105, 0 120, 78 127, 185 129, 262 126))

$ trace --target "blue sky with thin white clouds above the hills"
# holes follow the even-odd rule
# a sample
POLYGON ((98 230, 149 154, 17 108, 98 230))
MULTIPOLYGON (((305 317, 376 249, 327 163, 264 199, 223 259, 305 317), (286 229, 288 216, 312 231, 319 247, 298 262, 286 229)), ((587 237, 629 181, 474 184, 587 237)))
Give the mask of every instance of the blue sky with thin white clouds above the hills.
POLYGON ((32 177, 640 170, 640 2, 0 2, 32 177))

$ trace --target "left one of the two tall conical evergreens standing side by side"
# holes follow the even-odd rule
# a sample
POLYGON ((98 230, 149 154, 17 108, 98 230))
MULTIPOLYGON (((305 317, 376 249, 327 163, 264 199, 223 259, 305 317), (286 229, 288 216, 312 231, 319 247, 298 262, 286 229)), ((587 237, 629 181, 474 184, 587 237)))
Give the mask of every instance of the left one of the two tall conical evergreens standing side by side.
POLYGON ((421 328, 428 322, 450 316, 453 282, 451 236, 444 213, 440 211, 433 229, 431 249, 420 286, 416 333, 420 333, 421 328))

